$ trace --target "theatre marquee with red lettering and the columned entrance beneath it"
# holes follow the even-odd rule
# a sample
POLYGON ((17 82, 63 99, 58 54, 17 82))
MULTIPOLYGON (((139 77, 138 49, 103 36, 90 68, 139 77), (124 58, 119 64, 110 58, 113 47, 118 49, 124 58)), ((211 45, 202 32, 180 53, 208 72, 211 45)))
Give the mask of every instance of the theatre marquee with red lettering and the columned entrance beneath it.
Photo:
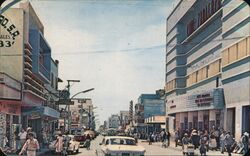
MULTIPOLYGON (((174 117, 175 129, 210 130, 223 127, 223 89, 202 91, 169 99, 167 113, 174 117)), ((171 127, 169 127, 171 129, 171 127)))

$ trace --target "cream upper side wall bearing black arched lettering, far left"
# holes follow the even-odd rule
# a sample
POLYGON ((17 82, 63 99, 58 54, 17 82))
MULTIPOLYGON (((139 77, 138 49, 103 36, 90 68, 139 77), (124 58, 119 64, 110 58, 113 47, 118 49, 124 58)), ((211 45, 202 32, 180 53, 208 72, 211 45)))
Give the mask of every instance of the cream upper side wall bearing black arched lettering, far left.
POLYGON ((0 72, 22 80, 24 12, 8 9, 0 15, 0 72))

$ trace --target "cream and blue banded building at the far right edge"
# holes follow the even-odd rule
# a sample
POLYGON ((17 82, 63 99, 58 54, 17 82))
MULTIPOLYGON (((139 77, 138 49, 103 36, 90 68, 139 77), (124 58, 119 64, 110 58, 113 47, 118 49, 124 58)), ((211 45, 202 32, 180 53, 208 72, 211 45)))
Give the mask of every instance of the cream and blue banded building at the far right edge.
POLYGON ((250 7, 244 1, 223 1, 222 84, 226 102, 225 129, 239 138, 250 133, 250 7))

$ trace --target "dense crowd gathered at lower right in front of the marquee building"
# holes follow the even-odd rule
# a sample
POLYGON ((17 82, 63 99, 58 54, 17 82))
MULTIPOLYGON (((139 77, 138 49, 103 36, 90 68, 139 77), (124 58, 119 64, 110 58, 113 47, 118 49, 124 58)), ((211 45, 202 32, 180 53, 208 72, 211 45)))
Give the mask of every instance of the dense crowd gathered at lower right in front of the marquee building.
POLYGON ((212 128, 210 133, 205 131, 184 131, 182 134, 175 131, 175 146, 178 144, 194 145, 194 149, 199 149, 201 154, 205 154, 209 150, 220 150, 223 154, 225 151, 230 156, 232 152, 243 153, 245 155, 249 146, 249 134, 244 132, 239 141, 236 141, 230 132, 212 128))

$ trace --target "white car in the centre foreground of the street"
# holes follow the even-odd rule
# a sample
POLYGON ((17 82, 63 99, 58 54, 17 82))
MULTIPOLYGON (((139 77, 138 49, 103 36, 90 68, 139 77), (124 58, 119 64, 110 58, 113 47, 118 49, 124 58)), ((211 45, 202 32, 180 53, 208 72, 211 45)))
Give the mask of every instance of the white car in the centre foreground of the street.
POLYGON ((131 137, 105 137, 100 145, 104 156, 144 156, 146 152, 145 148, 137 145, 131 137))

